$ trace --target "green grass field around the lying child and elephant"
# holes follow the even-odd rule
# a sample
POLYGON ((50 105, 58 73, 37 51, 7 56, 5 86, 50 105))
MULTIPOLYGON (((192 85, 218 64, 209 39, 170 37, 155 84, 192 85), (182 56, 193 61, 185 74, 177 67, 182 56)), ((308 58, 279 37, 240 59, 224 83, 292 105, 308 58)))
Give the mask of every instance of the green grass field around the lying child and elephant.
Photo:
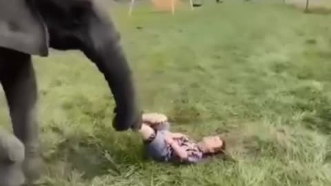
POLYGON ((331 16, 228 1, 174 16, 114 9, 143 109, 192 138, 226 133, 236 162, 146 159, 137 134, 112 129, 97 68, 54 52, 35 58, 47 185, 331 185, 331 16))

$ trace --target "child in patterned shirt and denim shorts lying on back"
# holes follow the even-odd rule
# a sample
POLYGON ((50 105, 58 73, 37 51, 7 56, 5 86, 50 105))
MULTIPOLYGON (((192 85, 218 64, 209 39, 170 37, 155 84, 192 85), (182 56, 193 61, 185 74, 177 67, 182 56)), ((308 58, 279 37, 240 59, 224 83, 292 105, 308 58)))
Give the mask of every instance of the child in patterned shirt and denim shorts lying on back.
POLYGON ((206 136, 198 143, 181 133, 170 132, 167 116, 157 113, 143 114, 143 136, 148 155, 155 161, 198 163, 212 154, 222 153, 225 143, 219 136, 206 136))

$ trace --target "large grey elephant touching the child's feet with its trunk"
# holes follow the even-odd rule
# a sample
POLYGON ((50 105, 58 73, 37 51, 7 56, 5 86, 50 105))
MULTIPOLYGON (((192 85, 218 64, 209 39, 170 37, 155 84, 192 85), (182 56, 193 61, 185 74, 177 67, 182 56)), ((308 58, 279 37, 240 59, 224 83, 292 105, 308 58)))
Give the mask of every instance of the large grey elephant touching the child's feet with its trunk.
MULTIPOLYGON (((39 177, 38 85, 32 56, 79 50, 103 74, 115 101, 115 131, 138 130, 141 110, 121 35, 96 0, 0 0, 0 82, 27 180, 39 177)), ((1 152, 0 152, 1 154, 1 152)))

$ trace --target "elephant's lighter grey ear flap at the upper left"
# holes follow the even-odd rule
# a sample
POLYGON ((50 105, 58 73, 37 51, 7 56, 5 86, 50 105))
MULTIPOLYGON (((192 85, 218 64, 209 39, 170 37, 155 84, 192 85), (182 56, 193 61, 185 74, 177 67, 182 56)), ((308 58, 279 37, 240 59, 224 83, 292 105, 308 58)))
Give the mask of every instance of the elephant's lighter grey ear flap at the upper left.
POLYGON ((48 56, 48 37, 33 0, 0 0, 0 47, 48 56))

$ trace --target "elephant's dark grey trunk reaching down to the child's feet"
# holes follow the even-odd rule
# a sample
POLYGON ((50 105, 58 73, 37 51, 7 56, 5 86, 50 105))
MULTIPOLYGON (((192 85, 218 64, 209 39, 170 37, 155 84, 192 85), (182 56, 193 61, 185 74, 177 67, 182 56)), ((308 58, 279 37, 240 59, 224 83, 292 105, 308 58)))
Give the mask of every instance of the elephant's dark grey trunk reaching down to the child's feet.
POLYGON ((119 34, 108 19, 91 21, 90 42, 83 52, 103 73, 116 107, 113 126, 117 131, 140 129, 141 112, 136 98, 132 72, 120 44, 119 34), (106 21, 105 21, 106 20, 106 21))

